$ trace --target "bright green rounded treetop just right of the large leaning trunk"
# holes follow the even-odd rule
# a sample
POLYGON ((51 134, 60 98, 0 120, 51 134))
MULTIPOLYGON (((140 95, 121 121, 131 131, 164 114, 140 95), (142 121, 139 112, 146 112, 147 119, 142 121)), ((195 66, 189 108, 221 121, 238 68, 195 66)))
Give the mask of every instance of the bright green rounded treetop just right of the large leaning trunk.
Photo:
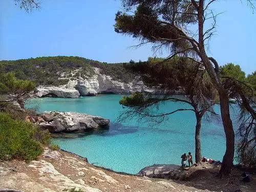
POLYGON ((240 81, 245 80, 245 72, 242 71, 239 65, 233 63, 227 63, 220 67, 221 77, 231 77, 240 81))

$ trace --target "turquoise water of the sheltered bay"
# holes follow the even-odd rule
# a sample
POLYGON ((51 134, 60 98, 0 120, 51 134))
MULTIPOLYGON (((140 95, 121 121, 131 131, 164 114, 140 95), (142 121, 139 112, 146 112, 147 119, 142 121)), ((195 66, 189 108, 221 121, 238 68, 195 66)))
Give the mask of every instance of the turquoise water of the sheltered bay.
MULTIPOLYGON (((63 150, 87 157, 90 163, 111 168, 118 172, 136 174, 145 166, 152 164, 180 164, 183 153, 195 153, 195 115, 184 111, 165 119, 161 124, 138 121, 137 118, 116 123, 123 111, 118 101, 122 95, 98 95, 78 99, 35 98, 26 104, 38 111, 74 111, 99 115, 111 120, 109 129, 86 133, 78 138, 53 139, 63 150)), ((232 105, 231 115, 236 126, 237 111, 232 105)), ((160 105, 159 112, 178 108, 189 108, 184 103, 166 102, 160 105)), ((220 114, 219 106, 215 110, 220 114)), ((202 155, 222 160, 225 152, 225 135, 219 118, 208 118, 202 122, 202 155)))

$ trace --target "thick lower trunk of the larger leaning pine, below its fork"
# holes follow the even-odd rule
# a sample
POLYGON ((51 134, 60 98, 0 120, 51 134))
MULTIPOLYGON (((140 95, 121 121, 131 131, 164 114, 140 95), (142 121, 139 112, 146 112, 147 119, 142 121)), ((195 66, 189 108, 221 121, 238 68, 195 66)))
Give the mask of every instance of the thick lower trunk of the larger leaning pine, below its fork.
POLYGON ((219 91, 223 127, 226 135, 226 152, 222 160, 220 176, 229 175, 234 157, 234 131, 229 114, 228 95, 225 90, 219 91))

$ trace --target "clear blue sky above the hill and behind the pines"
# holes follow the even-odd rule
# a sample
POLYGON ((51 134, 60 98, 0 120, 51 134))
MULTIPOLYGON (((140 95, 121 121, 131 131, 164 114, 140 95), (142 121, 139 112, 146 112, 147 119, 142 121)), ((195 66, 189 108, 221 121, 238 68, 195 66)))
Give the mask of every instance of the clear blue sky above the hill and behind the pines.
MULTIPOLYGON (((150 45, 114 31, 119 0, 41 0, 41 9, 27 13, 14 0, 0 1, 0 60, 73 55, 104 62, 146 60, 150 45)), ((212 9, 217 32, 208 53, 220 65, 239 64, 247 74, 256 70, 256 12, 245 0, 219 0, 212 9), (241 3, 242 2, 242 3, 241 3)), ((255 10, 256 11, 256 10, 255 10)))

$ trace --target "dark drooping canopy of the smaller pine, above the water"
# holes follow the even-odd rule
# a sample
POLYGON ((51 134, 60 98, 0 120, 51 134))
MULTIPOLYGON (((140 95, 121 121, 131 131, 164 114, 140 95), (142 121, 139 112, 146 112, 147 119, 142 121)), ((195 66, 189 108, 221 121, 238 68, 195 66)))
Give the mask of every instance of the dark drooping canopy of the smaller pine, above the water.
POLYGON ((178 56, 172 59, 149 57, 146 62, 131 63, 127 67, 139 73, 148 87, 157 87, 163 93, 178 91, 195 96, 201 92, 204 97, 216 100, 217 93, 209 76, 204 70, 199 70, 198 63, 191 59, 178 56))

